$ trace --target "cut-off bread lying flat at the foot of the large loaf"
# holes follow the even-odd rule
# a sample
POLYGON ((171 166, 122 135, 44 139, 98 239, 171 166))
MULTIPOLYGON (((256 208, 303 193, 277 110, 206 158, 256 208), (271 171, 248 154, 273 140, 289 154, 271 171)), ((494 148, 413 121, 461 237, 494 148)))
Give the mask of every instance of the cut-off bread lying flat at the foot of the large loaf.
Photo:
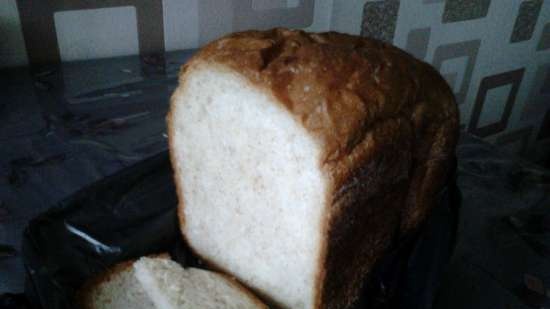
POLYGON ((83 309, 267 309, 235 280, 167 255, 121 263, 79 293, 83 309))

